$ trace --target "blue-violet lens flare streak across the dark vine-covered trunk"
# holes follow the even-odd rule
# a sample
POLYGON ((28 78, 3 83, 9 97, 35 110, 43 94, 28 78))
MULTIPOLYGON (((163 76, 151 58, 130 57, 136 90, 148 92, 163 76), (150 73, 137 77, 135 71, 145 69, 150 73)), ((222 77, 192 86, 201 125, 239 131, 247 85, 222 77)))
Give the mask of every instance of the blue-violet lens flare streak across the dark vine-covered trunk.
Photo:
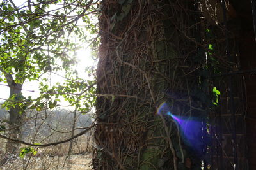
POLYGON ((172 117, 179 126, 180 135, 184 143, 198 154, 202 153, 202 121, 196 120, 195 118, 173 115, 170 107, 166 103, 162 103, 159 106, 157 114, 172 117))

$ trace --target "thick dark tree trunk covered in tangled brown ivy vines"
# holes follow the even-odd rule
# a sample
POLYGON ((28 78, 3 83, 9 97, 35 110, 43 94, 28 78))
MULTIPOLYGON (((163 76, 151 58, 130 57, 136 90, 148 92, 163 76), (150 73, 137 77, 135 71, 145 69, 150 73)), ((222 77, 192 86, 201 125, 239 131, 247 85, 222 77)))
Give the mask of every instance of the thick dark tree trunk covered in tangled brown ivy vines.
POLYGON ((170 115, 202 117, 206 111, 200 99, 192 99, 202 93, 198 83, 204 80, 196 74, 205 63, 195 39, 196 3, 105 0, 101 5, 93 166, 200 169, 200 153, 184 144, 170 115))

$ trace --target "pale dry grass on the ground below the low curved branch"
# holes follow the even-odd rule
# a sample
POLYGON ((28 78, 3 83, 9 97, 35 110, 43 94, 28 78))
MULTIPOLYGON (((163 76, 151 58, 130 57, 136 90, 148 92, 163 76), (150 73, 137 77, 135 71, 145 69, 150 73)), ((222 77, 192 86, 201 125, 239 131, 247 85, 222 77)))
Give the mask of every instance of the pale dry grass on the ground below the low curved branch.
MULTIPOLYGON (((28 153, 23 159, 20 157, 11 157, 6 163, 0 167, 0 170, 79 170, 92 169, 92 139, 87 139, 84 136, 74 140, 72 147, 72 155, 66 159, 68 153, 68 143, 61 145, 49 146, 47 148, 39 148, 36 155, 28 153), (31 157, 29 159, 29 157, 31 157), (65 166, 63 168, 63 165, 65 166)), ((6 155, 4 145, 6 141, 0 139, 0 158, 6 155)), ((22 145, 21 147, 26 147, 22 145)), ((35 148, 36 149, 36 148, 35 148)), ((1 160, 1 159, 0 159, 1 160)))

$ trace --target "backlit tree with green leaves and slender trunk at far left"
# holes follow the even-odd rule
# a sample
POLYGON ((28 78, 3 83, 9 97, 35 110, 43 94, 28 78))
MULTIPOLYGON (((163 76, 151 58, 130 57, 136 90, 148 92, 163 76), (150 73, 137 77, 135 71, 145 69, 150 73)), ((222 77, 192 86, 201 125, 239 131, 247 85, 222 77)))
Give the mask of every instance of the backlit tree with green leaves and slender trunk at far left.
MULTIPOLYGON (((76 63, 72 55, 77 45, 71 36, 76 34, 81 42, 88 39, 77 25, 79 20, 88 23, 86 27, 95 32, 95 25, 91 24, 88 14, 93 13, 93 4, 96 3, 28 0, 17 5, 16 1, 10 0, 0 4, 0 71, 3 75, 0 81, 10 87, 10 97, 2 105, 10 109, 10 138, 21 138, 27 108, 53 108, 60 101, 58 96, 68 93, 63 92, 64 87, 56 91, 53 86, 42 83, 41 96, 35 100, 31 97, 26 99, 22 96, 22 86, 25 81, 38 81, 44 73, 52 71, 65 70, 72 75, 73 72, 68 70, 76 63)), ((18 149, 19 143, 8 142, 6 145, 9 153, 16 154, 18 149)))

